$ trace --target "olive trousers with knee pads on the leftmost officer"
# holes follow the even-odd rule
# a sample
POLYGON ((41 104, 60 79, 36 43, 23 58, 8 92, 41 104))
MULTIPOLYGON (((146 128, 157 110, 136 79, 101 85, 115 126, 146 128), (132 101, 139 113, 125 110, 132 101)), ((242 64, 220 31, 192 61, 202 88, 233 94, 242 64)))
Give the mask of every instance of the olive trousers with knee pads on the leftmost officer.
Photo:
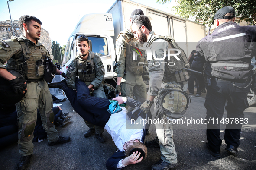
POLYGON ((21 156, 33 153, 33 132, 36 126, 37 109, 42 119, 42 126, 47 133, 48 142, 58 140, 55 129, 54 113, 52 112, 52 95, 44 80, 27 84, 25 97, 16 103, 19 127, 19 153, 21 156))

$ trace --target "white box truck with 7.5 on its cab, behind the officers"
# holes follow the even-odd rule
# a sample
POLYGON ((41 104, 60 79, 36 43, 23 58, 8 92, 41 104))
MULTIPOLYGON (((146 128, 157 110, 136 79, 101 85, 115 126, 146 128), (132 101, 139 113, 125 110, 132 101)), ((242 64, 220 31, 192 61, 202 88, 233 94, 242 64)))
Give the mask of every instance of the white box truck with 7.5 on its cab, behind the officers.
POLYGON ((75 39, 86 35, 91 40, 91 51, 101 57, 105 67, 104 82, 115 87, 113 62, 115 61, 115 41, 120 31, 130 28, 130 14, 134 9, 141 9, 148 16, 152 28, 158 35, 169 35, 178 42, 185 53, 195 50, 196 43, 205 36, 205 26, 189 21, 158 9, 151 8, 130 0, 117 0, 107 13, 87 14, 81 18, 68 39, 63 57, 62 71, 77 55, 75 39))

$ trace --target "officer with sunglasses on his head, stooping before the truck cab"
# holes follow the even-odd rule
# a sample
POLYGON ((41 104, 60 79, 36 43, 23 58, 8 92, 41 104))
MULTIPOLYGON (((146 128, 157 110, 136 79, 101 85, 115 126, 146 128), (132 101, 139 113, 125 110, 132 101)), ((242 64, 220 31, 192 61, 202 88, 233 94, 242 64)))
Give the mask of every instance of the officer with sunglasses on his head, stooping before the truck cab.
MULTIPOLYGON (((81 79, 88 86, 88 88, 93 91, 93 95, 95 97, 106 98, 102 84, 105 69, 101 58, 89 51, 89 40, 84 35, 79 35, 76 38, 76 47, 78 50, 78 55, 68 66, 66 72, 66 82, 68 87, 76 89, 75 79, 77 76, 79 76, 79 79, 81 79)), ((84 137, 89 137, 96 132, 96 138, 99 139, 100 142, 105 142, 104 136, 102 135, 104 132, 103 127, 95 126, 86 120, 84 120, 84 122, 90 128, 84 133, 84 137)))

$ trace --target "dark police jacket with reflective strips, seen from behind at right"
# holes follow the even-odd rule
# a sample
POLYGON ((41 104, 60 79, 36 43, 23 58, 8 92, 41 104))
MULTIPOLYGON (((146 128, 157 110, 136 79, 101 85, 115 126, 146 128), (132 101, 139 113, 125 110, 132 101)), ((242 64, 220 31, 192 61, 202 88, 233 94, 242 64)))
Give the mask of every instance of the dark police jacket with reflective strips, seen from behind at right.
POLYGON ((252 75, 250 63, 256 55, 255 41, 256 26, 225 22, 198 42, 198 57, 192 68, 202 72, 206 63, 204 72, 207 76, 245 82, 252 75))

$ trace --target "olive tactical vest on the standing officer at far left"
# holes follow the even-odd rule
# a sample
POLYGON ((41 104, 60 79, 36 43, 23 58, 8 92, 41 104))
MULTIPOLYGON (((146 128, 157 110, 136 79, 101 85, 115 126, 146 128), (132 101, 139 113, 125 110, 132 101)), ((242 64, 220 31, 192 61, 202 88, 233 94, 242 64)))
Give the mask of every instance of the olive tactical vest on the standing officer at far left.
POLYGON ((47 56, 42 50, 42 45, 39 48, 29 48, 27 41, 23 38, 15 37, 16 40, 22 47, 23 50, 23 60, 16 60, 10 58, 7 61, 7 68, 18 69, 22 71, 28 79, 42 79, 44 77, 44 60, 47 56))

